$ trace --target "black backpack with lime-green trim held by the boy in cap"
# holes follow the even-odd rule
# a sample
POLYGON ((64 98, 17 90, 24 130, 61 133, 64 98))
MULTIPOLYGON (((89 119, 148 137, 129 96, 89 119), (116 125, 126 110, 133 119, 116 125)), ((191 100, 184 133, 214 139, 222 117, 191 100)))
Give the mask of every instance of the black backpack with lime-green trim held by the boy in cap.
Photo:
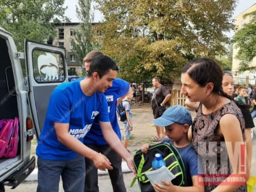
POLYGON ((133 164, 135 166, 137 177, 134 177, 130 187, 133 187, 136 179, 141 192, 153 192, 154 188, 151 182, 146 177, 146 172, 152 171, 152 160, 156 153, 161 153, 163 159, 166 162, 166 168, 176 176, 172 179, 173 185, 187 186, 187 178, 185 172, 185 166, 182 158, 180 157, 179 151, 169 143, 158 143, 150 146, 147 154, 143 154, 141 150, 138 150, 133 156, 133 164))

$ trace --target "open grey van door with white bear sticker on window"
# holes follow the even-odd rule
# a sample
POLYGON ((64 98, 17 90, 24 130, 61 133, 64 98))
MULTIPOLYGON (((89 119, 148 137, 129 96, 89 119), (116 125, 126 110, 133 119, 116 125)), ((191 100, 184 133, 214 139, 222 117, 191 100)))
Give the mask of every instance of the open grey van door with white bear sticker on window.
POLYGON ((37 138, 43 129, 49 98, 54 88, 68 81, 65 49, 25 41, 27 86, 37 138))

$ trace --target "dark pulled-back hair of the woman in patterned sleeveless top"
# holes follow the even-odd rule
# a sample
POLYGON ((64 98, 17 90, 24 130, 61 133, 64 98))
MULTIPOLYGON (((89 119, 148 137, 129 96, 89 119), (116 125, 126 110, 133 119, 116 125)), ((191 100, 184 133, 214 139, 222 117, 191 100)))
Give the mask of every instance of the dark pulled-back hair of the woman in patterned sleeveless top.
POLYGON ((222 91, 223 72, 213 59, 202 57, 191 60, 191 62, 183 66, 182 73, 188 73, 188 76, 201 87, 205 87, 209 82, 212 82, 214 85, 213 93, 221 94, 231 99, 229 95, 222 91))

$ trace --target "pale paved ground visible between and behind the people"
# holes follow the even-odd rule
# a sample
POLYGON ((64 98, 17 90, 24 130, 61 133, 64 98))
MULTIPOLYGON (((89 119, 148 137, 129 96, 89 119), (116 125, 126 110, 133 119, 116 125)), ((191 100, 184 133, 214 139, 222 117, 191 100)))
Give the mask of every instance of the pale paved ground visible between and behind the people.
MULTIPOLYGON (((155 127, 151 123, 152 121, 152 111, 149 104, 141 105, 132 105, 133 113, 133 124, 135 126, 132 135, 133 139, 130 140, 129 150, 132 154, 140 149, 141 144, 143 143, 153 143, 151 138, 155 136, 155 127)), ((192 113, 194 116, 194 113, 192 113)), ((256 118, 255 118, 256 120, 256 118)), ((256 123, 256 121, 255 121, 256 123)), ((123 132, 123 124, 120 124, 120 127, 123 132)), ((255 137, 253 140, 253 160, 252 160, 252 175, 256 176, 256 130, 255 137)), ((127 192, 138 192, 138 183, 135 182, 133 188, 130 188, 130 183, 132 182, 133 174, 131 172, 124 173, 124 181, 126 183, 127 192)), ((24 191, 36 191, 37 182, 23 182, 15 190, 10 190, 9 187, 6 187, 7 192, 24 192, 24 191)), ((62 192, 62 183, 60 183, 60 192, 62 192)), ((99 176, 99 191, 101 192, 110 192, 112 191, 112 185, 108 175, 99 176)), ((254 190, 256 192, 256 189, 254 190)))

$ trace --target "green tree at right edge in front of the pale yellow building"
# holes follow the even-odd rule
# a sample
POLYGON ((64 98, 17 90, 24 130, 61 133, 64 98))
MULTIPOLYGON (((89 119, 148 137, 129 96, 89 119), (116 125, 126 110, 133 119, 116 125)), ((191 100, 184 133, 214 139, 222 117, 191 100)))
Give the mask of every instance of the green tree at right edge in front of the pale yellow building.
POLYGON ((236 59, 240 60, 240 71, 255 70, 256 66, 249 66, 249 63, 256 57, 256 11, 244 14, 243 18, 250 17, 250 23, 238 30, 233 42, 238 49, 236 59))

